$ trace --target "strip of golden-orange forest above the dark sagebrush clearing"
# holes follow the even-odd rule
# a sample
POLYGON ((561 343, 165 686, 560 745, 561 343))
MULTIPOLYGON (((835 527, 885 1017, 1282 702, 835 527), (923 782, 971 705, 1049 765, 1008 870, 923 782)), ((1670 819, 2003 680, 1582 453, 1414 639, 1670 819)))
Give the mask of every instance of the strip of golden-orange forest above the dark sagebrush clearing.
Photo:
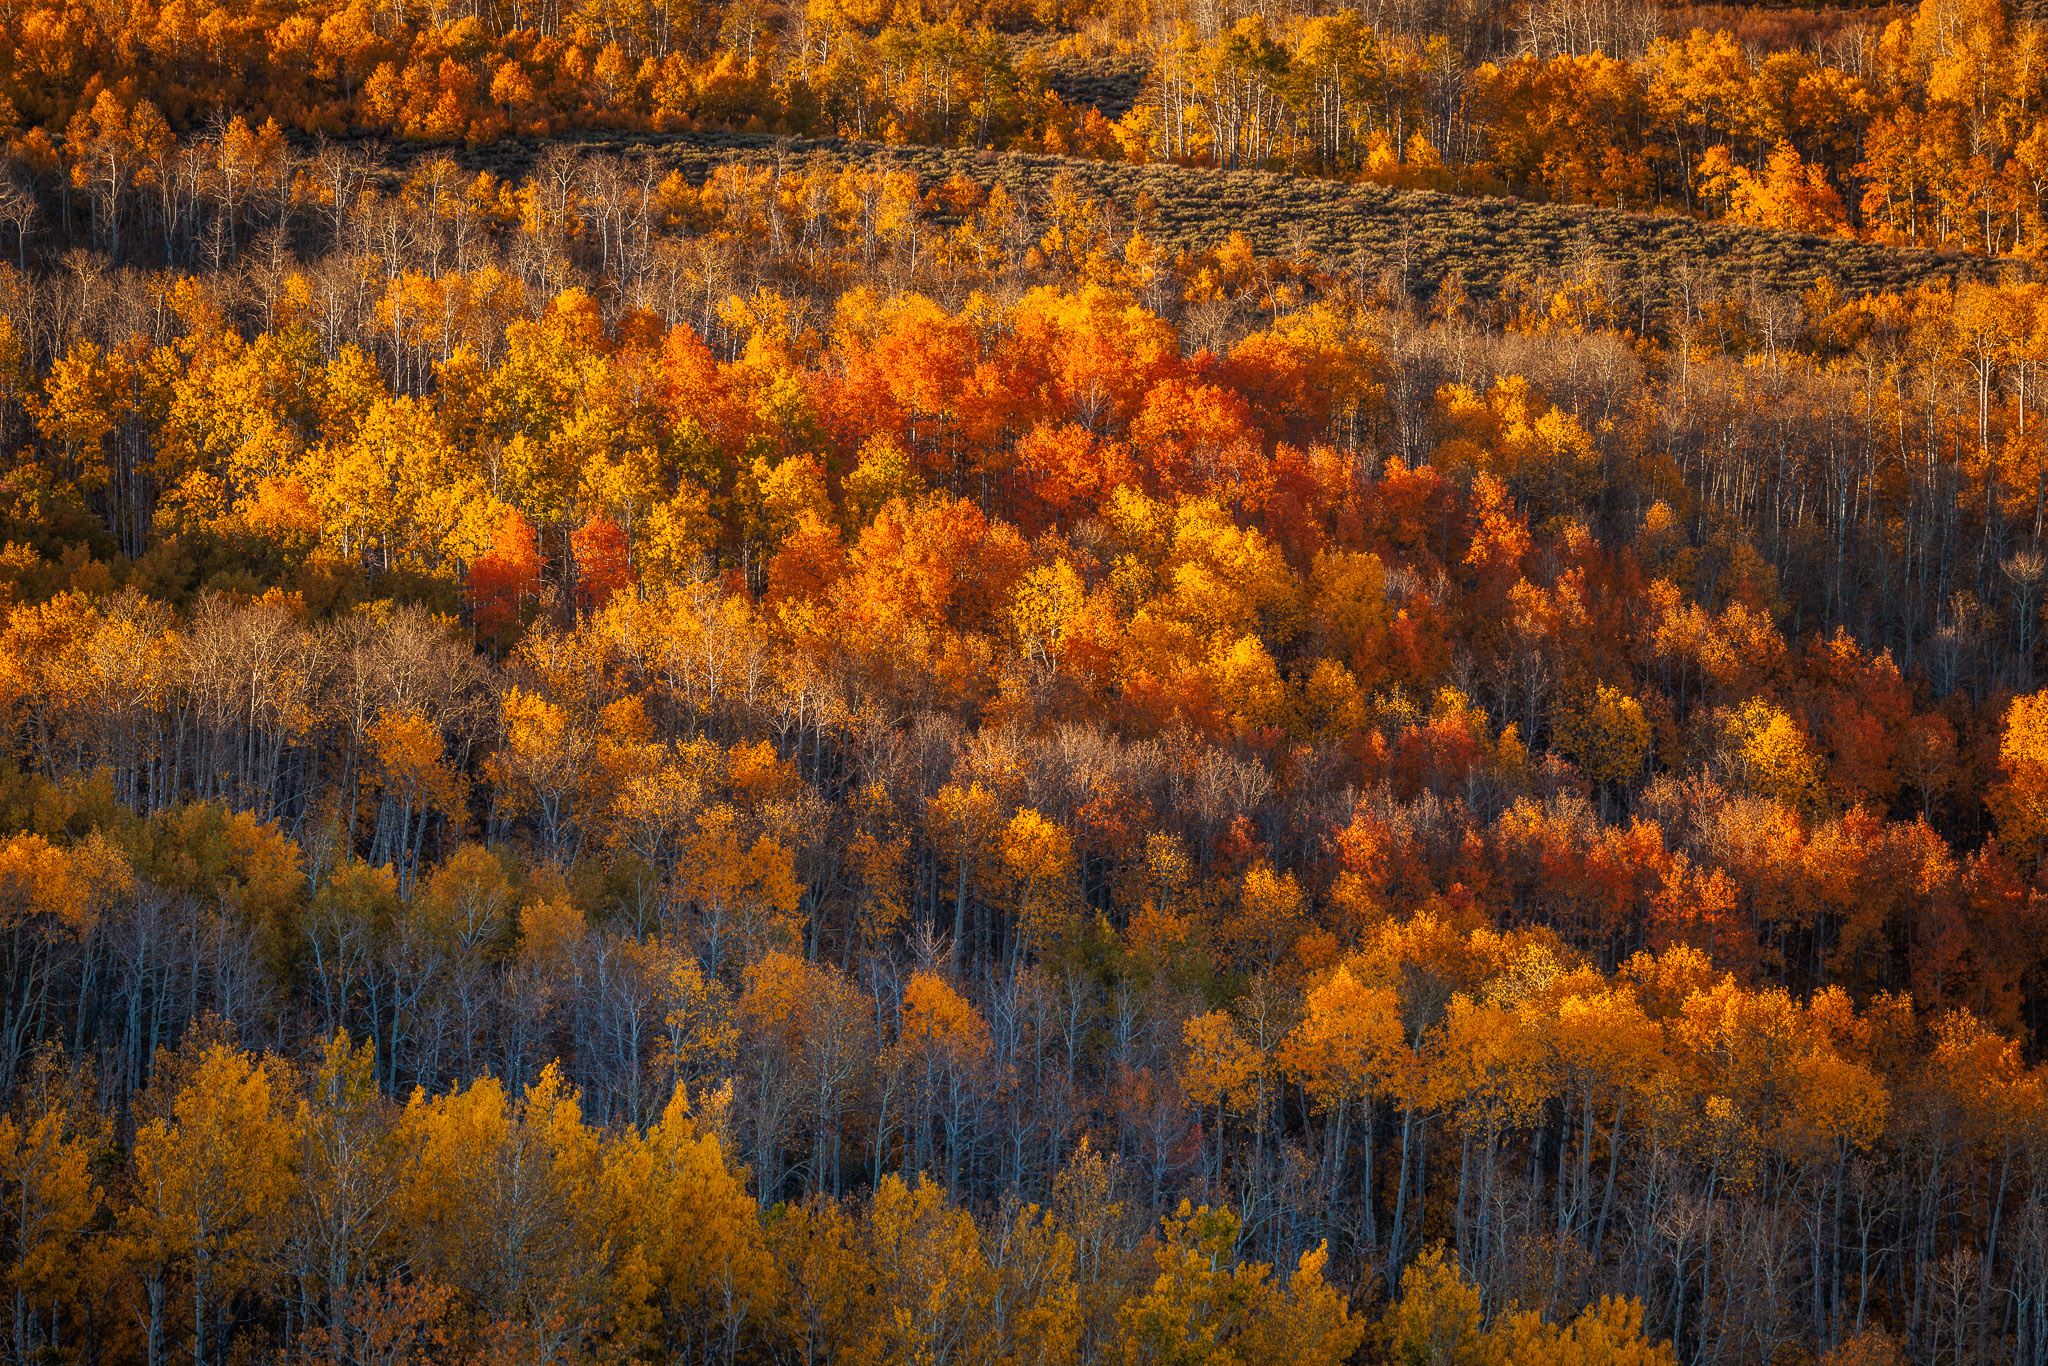
MULTIPOLYGON (((80 0, 0 6, 0 223, 154 193, 211 129, 487 147, 735 129, 1677 209, 2036 258, 2048 25, 2009 0, 80 0)), ((332 186, 330 186, 332 193, 332 186)), ((20 223, 14 223, 20 231, 20 223)), ((119 242, 106 240, 119 256, 119 242)))

